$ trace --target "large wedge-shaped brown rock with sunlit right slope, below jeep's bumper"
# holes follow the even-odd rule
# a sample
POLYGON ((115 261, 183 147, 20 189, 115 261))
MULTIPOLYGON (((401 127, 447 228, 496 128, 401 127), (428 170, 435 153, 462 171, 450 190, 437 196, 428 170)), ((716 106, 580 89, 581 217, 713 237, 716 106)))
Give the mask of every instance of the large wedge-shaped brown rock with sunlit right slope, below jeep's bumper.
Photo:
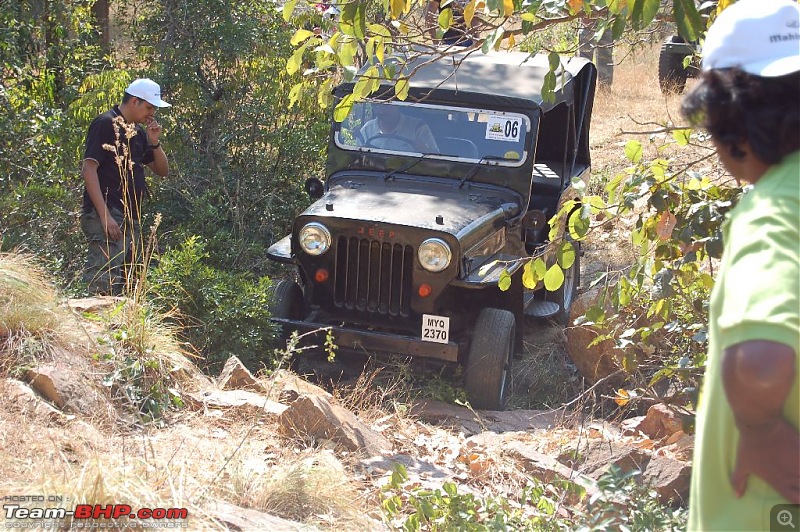
POLYGON ((368 456, 392 449, 389 440, 371 430, 352 412, 318 395, 299 397, 280 415, 278 423, 286 435, 331 440, 368 456))

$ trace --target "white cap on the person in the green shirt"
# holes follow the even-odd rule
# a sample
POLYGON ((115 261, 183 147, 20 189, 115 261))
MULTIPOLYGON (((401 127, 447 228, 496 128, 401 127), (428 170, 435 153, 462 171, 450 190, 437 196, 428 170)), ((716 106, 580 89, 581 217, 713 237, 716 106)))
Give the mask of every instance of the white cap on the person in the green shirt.
POLYGON ((800 5, 740 0, 719 14, 703 45, 703 70, 738 67, 762 77, 800 70, 800 5))

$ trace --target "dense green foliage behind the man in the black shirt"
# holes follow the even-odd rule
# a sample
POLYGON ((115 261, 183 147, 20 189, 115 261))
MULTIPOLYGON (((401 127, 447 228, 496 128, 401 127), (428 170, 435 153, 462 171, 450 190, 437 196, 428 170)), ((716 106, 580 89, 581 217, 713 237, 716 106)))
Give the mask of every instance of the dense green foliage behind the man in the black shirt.
POLYGON ((307 201, 305 178, 321 174, 327 117, 303 101, 289 108, 290 32, 273 2, 116 0, 106 28, 102 3, 0 5, 0 249, 35 252, 62 287, 83 292, 85 133, 131 80, 150 77, 173 105, 158 115, 170 176, 149 178, 145 207, 146 224, 163 217, 153 266, 160 253, 173 265, 156 269, 154 292, 180 293, 172 304, 204 353, 227 335, 223 352, 247 346, 255 364, 271 344, 268 316, 242 312, 254 314, 269 276, 281 273, 266 249, 307 201), (202 249, 187 259, 195 238, 202 249), (188 279, 216 291, 212 300, 256 295, 241 312, 232 310, 239 298, 212 312, 197 283, 181 285, 188 279))

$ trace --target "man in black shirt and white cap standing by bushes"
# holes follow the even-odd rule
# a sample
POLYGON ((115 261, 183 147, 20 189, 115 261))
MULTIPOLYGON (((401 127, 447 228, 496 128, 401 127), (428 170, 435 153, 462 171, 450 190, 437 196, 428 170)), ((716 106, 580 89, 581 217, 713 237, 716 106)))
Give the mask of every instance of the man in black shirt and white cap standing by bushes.
POLYGON ((157 83, 137 79, 120 105, 89 126, 81 168, 81 229, 89 242, 84 280, 90 292, 116 294, 126 286, 125 267, 141 250, 144 167, 162 177, 169 172, 159 141, 162 127, 155 119, 157 108, 169 106, 157 83))

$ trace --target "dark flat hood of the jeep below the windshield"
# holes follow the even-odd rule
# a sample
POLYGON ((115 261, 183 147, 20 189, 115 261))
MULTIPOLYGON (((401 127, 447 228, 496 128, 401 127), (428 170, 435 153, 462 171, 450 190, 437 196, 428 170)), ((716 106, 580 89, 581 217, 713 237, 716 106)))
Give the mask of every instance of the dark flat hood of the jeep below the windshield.
POLYGON ((401 225, 458 236, 473 222, 485 223, 486 217, 518 215, 519 203, 516 194, 497 187, 468 183, 459 188, 453 180, 398 176, 387 181, 382 175, 365 175, 335 179, 302 216, 401 225))

